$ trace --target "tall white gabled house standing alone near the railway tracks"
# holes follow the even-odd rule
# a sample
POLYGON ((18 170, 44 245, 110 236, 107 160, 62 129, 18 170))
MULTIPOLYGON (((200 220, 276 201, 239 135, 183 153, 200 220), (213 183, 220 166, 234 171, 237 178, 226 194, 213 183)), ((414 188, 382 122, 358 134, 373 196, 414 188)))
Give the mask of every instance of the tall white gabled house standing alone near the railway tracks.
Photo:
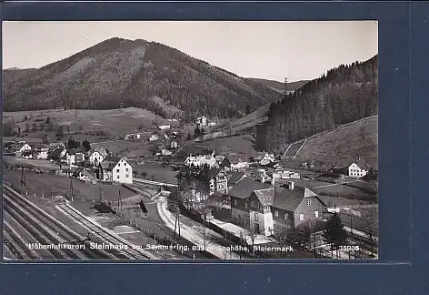
POLYGON ((133 167, 125 158, 106 157, 98 164, 98 178, 102 181, 133 183, 133 167))

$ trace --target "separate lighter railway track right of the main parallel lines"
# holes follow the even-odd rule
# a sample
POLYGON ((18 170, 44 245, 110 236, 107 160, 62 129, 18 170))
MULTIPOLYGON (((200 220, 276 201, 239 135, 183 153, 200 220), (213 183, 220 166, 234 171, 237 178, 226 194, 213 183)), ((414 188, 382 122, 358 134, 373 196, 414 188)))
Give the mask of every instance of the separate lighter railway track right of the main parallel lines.
POLYGON ((143 249, 135 248, 134 245, 132 245, 126 239, 115 235, 115 233, 112 233, 94 221, 87 219, 84 214, 68 206, 67 204, 57 205, 57 208, 62 210, 63 213, 68 215, 70 218, 74 219, 75 222, 78 223, 81 227, 94 234, 95 237, 103 240, 107 247, 118 247, 118 249, 124 253, 128 259, 156 259, 154 256, 145 252, 143 249))

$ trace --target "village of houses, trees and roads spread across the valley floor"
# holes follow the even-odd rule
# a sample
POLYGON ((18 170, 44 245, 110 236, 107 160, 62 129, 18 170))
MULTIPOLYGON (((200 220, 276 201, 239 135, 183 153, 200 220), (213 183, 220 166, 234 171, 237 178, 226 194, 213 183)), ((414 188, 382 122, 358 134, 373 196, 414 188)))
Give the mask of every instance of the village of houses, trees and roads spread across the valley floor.
MULTIPOLYGON (((174 123, 173 119, 171 122, 174 123)), ((196 130, 205 134, 205 128, 216 125, 205 116, 198 117, 195 134, 196 130)), ((79 142, 73 137, 49 144, 5 141, 5 175, 7 170, 17 170, 21 184, 25 182, 25 175, 28 178, 29 174, 55 174, 86 186, 102 183, 105 188, 119 185, 133 190, 146 198, 135 202, 143 214, 134 213, 128 220, 150 219, 151 215, 157 215, 171 229, 174 238, 182 230, 179 233, 182 239, 217 258, 225 254, 219 255, 214 249, 216 243, 228 249, 239 247, 240 250, 231 251, 235 259, 242 255, 283 258, 287 257, 287 250, 284 250, 287 247, 294 249, 295 254, 301 253, 301 258, 377 257, 376 213, 373 210, 377 206, 376 199, 359 198, 365 182, 374 178, 376 172, 363 158, 355 158, 347 167, 326 171, 314 171, 306 162, 300 168, 288 168, 287 159, 268 151, 248 157, 231 150, 191 148, 192 152, 179 158, 177 155, 194 138, 189 133, 186 136, 178 127, 167 124, 156 127, 156 132, 146 136, 137 129, 126 134, 123 146, 126 147, 127 142, 147 142, 151 148, 145 163, 169 171, 169 178, 159 178, 157 170, 153 173, 139 171, 139 159, 112 152, 104 148, 107 144, 103 142, 79 142), (358 193, 354 196, 355 191, 358 193), (151 206, 154 203, 157 204, 151 206), (164 207, 160 207, 160 203, 164 207), (325 225, 333 215, 340 217, 348 233, 344 243, 347 248, 336 253, 323 237, 325 225), (183 223, 185 219, 188 225, 183 223), (195 225, 199 228, 195 229, 195 225), (212 239, 207 238, 210 233, 212 239), (222 242, 216 242, 215 236, 221 237, 222 242), (243 254, 244 246, 253 250, 243 254), (213 250, 209 250, 210 247, 213 250)), ((67 189, 63 197, 73 200, 73 189, 67 189)), ((85 196, 91 203, 105 204, 105 207, 98 206, 99 213, 105 215, 121 211, 121 201, 116 202, 116 198, 121 197, 106 201, 101 192, 99 198, 85 196)), ((147 234, 148 229, 141 227, 147 234)))

